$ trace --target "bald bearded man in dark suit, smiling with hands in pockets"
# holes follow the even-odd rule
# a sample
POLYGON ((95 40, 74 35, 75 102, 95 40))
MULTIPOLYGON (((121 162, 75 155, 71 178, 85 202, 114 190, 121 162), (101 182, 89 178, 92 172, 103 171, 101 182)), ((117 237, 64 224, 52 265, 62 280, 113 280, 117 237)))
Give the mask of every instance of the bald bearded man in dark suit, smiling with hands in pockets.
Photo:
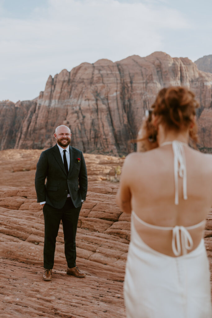
POLYGON ((76 267, 76 232, 79 212, 87 193, 87 170, 83 154, 71 147, 71 131, 55 129, 57 144, 43 151, 37 163, 35 189, 44 213, 44 274, 51 280, 56 237, 63 223, 67 274, 85 277, 76 267), (47 179, 45 184, 45 179, 47 179))

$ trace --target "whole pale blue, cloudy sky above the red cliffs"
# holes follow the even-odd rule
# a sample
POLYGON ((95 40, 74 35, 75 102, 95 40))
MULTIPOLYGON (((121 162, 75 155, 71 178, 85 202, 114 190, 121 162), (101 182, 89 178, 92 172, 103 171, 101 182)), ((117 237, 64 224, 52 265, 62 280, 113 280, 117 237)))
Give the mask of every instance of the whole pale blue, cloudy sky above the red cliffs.
POLYGON ((163 51, 212 54, 210 0, 0 0, 0 100, 31 100, 64 68, 163 51))

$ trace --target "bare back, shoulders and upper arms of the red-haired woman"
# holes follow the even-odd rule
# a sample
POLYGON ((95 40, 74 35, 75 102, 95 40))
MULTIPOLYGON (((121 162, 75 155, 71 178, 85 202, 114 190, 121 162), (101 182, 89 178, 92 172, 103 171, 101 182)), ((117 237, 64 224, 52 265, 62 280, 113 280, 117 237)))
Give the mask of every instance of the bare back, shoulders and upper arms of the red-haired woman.
MULTIPOLYGON (((131 206, 143 221, 157 226, 188 227, 207 217, 212 205, 212 156, 183 146, 187 170, 187 195, 183 198, 183 181, 178 177, 179 204, 174 204, 174 153, 164 145, 145 153, 133 153, 126 162, 124 179, 131 192, 131 206), (133 164, 130 164, 130 162, 133 164)), ((136 231, 154 250, 174 256, 171 231, 149 228, 134 219, 136 231)), ((204 225, 189 233, 195 249, 203 236, 204 225)))

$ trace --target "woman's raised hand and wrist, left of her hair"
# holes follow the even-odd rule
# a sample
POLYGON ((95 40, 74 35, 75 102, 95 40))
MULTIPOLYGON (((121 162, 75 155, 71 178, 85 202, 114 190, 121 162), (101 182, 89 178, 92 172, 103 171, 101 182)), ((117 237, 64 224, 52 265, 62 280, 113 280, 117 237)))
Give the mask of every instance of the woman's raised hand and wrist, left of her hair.
POLYGON ((150 135, 155 134, 153 125, 147 117, 143 117, 141 128, 137 137, 137 151, 144 152, 158 147, 158 142, 151 140, 150 135))

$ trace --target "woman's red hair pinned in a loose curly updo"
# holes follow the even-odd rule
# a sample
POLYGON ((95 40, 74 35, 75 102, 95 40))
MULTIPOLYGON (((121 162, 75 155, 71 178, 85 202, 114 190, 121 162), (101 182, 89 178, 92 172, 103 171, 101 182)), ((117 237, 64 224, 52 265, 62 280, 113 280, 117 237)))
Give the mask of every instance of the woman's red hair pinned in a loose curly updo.
MULTIPOLYGON (((188 129, 189 125, 194 123, 193 117, 197 107, 199 107, 199 103, 195 100, 195 94, 188 88, 180 86, 161 89, 152 106, 153 114, 158 117, 157 123, 176 131, 188 129)), ((189 135, 197 142, 195 124, 189 130, 189 135)))

